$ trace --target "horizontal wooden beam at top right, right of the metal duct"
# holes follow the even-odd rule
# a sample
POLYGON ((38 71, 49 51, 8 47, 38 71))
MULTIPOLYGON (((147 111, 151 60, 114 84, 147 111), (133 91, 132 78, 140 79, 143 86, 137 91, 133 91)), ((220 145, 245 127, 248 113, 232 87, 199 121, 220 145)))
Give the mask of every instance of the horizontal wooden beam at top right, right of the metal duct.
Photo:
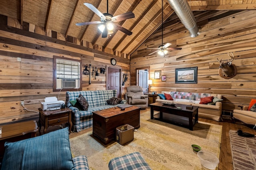
POLYGON ((190 8, 192 11, 198 11, 198 10, 256 10, 256 4, 190 6, 190 8))

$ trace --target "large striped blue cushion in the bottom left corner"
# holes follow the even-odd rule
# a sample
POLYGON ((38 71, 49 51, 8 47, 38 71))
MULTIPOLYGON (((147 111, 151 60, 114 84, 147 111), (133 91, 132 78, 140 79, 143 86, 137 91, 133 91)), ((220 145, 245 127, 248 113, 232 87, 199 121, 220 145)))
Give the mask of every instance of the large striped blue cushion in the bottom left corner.
POLYGON ((18 142, 6 142, 4 169, 74 170, 68 127, 18 142))

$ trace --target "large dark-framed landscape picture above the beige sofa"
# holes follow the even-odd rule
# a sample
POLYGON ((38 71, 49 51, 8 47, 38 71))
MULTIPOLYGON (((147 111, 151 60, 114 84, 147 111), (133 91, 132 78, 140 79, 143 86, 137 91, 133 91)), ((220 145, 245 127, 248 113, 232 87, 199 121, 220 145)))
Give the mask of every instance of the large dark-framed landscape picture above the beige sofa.
POLYGON ((175 69, 175 83, 197 83, 197 67, 175 69))

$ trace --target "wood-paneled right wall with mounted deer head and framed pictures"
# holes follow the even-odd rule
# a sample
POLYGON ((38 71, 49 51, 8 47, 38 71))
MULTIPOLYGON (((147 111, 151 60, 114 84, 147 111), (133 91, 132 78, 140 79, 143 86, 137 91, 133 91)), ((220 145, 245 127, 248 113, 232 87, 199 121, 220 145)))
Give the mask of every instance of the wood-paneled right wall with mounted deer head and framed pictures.
POLYGON ((185 91, 223 94, 223 111, 239 109, 256 99, 256 10, 194 12, 200 35, 190 38, 188 30, 171 16, 164 24, 163 42, 182 50, 170 51, 165 57, 146 49, 161 45, 161 30, 152 34, 131 54, 131 85, 136 85, 136 69, 150 67, 151 91, 185 91), (224 79, 218 75, 218 59, 228 60, 234 54, 237 75, 224 79), (198 67, 198 83, 175 83, 175 69, 198 67), (166 75, 166 81, 154 79, 154 71, 166 75))

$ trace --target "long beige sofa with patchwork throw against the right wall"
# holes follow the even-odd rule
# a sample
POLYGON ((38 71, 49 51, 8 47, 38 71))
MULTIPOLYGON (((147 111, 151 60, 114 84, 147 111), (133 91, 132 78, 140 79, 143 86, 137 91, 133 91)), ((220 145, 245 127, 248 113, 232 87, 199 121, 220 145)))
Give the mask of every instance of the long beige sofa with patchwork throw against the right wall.
MULTIPOLYGON (((215 105, 199 104, 200 98, 214 96, 218 99, 222 98, 220 94, 210 94, 210 93, 188 93, 188 92, 175 92, 175 91, 162 91, 162 94, 167 93, 172 96, 174 103, 198 106, 198 117, 212 119, 214 121, 220 121, 222 103, 216 102, 215 105)), ((156 102, 170 102, 170 100, 160 99, 158 96, 156 102)))

